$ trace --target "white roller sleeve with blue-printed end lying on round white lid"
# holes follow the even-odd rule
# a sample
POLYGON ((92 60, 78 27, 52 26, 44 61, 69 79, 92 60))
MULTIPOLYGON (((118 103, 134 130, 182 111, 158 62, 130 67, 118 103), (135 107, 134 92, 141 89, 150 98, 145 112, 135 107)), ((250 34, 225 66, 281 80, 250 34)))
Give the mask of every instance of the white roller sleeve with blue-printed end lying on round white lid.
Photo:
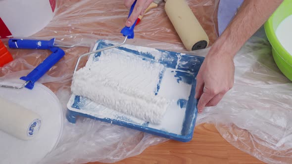
POLYGON ((0 130, 22 140, 33 138, 41 126, 41 117, 16 103, 0 97, 0 130))

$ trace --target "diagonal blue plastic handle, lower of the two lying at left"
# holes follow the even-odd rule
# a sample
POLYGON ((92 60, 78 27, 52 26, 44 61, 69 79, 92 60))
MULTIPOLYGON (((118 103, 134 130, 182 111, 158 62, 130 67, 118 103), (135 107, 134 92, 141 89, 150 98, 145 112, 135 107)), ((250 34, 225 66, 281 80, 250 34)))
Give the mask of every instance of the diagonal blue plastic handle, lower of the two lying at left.
POLYGON ((29 81, 29 83, 25 86, 28 89, 33 89, 35 82, 37 82, 43 75, 46 74, 46 72, 49 71, 49 69, 55 65, 64 55, 65 52, 58 47, 52 47, 50 48, 52 53, 45 59, 38 67, 36 67, 31 73, 29 73, 25 77, 21 77, 21 80, 24 80, 26 82, 29 81))

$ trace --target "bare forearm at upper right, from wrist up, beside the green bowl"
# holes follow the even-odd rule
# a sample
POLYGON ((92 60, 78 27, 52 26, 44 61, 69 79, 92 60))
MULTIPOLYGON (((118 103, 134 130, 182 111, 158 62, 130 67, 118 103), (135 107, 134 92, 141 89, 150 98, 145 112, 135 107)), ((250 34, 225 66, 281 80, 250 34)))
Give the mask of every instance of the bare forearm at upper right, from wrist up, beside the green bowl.
POLYGON ((243 44, 265 23, 283 0, 244 0, 237 15, 216 41, 215 49, 224 48, 235 55, 243 44))

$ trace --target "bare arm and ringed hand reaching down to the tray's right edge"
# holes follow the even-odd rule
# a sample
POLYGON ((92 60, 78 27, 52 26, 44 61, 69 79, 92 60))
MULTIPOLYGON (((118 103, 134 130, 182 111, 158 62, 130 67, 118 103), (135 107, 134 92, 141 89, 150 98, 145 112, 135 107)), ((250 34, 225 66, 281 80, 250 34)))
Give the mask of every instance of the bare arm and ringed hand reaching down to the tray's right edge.
POLYGON ((244 0, 237 15, 210 48, 198 72, 195 98, 199 98, 199 113, 204 107, 217 105, 233 87, 234 56, 282 1, 244 0))

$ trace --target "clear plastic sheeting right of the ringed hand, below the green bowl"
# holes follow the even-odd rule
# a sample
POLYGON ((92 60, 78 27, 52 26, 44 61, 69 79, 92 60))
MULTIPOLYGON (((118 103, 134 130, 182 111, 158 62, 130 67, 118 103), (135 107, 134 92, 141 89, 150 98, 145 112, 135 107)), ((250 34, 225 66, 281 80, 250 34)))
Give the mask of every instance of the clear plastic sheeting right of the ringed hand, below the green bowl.
POLYGON ((276 66, 271 45, 252 37, 235 57, 234 87, 199 123, 214 123, 232 145, 269 164, 292 161, 292 83, 276 66))

